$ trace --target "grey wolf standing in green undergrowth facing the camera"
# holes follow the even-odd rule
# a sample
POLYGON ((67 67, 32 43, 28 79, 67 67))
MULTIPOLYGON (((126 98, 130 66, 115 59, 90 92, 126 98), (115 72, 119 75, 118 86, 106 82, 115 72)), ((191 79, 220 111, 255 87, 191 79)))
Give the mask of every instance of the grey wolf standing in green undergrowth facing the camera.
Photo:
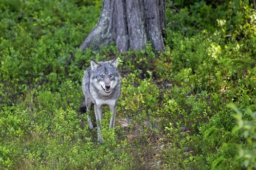
POLYGON ((98 141, 102 142, 100 133, 102 106, 107 105, 110 112, 112 112, 109 127, 114 128, 115 126, 117 102, 121 93, 118 58, 105 62, 92 60, 90 64, 91 66, 84 71, 82 79, 82 91, 85 100, 81 104, 81 107, 86 106, 89 128, 93 129, 89 113, 92 104, 94 104, 98 141))

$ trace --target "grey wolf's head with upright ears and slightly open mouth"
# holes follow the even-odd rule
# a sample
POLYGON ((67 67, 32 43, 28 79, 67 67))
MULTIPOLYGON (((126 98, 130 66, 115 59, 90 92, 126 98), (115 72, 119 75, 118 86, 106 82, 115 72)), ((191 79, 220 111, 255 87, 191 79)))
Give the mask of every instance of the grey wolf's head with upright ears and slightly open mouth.
POLYGON ((92 85, 104 96, 111 94, 120 81, 118 58, 105 62, 96 62, 92 60, 91 68, 92 85))

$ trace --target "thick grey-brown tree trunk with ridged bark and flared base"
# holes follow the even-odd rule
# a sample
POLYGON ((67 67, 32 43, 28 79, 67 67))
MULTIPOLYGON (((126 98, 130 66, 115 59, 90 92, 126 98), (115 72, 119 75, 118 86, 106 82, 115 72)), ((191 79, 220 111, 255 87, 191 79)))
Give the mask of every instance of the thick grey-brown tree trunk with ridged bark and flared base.
POLYGON ((115 42, 118 51, 142 50, 148 42, 163 51, 165 0, 103 0, 97 25, 81 50, 115 42))

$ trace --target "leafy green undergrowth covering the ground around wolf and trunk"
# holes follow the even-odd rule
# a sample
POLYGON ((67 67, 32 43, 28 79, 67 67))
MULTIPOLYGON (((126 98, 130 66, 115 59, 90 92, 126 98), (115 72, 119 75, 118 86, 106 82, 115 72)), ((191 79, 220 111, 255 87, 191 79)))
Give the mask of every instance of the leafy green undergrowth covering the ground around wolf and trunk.
POLYGON ((78 50, 102 0, 0 1, 0 169, 256 169, 251 2, 166 0, 165 50, 78 50), (89 130, 83 71, 118 56, 115 129, 89 130))

